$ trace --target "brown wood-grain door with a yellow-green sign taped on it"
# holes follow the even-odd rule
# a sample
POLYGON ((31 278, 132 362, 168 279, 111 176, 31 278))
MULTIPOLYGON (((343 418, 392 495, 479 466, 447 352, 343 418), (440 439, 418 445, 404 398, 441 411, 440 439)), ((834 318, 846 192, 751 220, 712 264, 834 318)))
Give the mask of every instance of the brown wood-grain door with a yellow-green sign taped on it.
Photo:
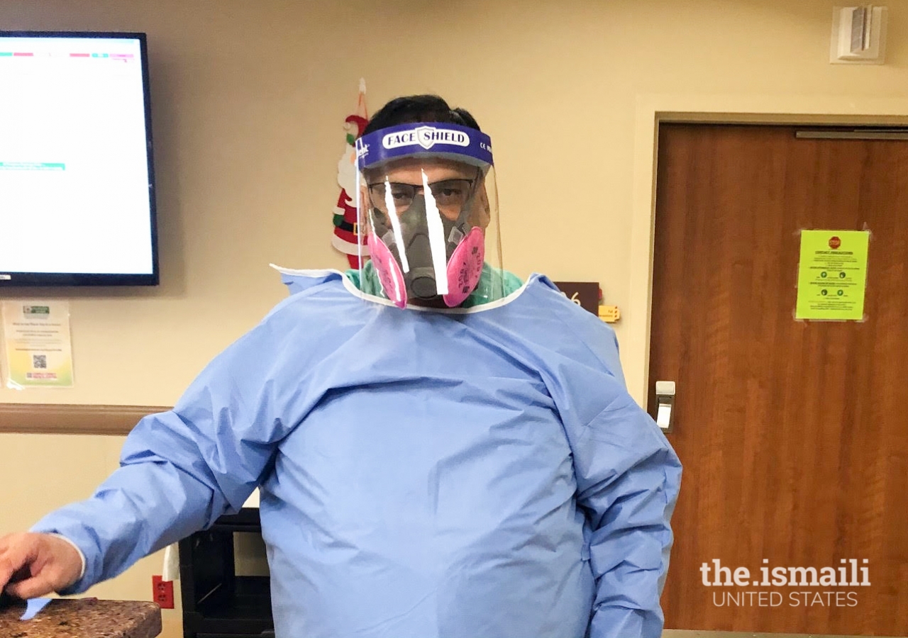
POLYGON ((905 636, 908 142, 797 130, 660 127, 650 407, 676 381, 685 466, 666 628, 905 636), (795 320, 804 229, 872 232, 864 321, 795 320))

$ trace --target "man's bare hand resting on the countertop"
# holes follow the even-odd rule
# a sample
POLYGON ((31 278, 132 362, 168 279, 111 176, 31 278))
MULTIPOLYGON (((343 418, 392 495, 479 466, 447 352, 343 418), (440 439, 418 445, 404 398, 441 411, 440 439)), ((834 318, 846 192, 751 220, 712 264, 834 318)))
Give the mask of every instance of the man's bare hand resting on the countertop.
POLYGON ((35 598, 73 584, 82 557, 73 545, 49 534, 10 534, 0 538, 0 591, 35 598))

